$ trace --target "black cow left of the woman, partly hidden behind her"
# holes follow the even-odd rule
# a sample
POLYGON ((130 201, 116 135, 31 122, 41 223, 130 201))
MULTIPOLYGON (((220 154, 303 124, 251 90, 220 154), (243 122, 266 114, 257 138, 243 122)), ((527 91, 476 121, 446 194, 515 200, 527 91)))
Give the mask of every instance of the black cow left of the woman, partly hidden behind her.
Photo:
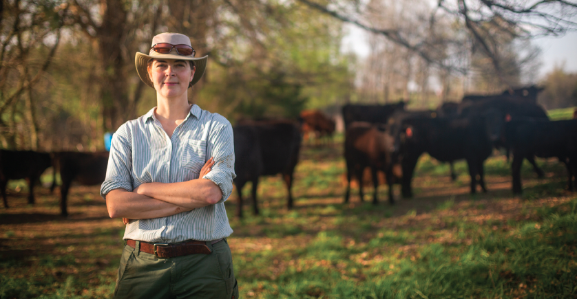
POLYGON ((60 208, 63 216, 68 215, 67 198, 68 191, 73 181, 80 185, 93 186, 102 184, 106 178, 106 167, 108 165, 108 152, 79 153, 79 152, 58 152, 53 153, 54 161, 54 181, 50 191, 56 186, 56 170, 59 170, 62 180, 60 187, 60 208))

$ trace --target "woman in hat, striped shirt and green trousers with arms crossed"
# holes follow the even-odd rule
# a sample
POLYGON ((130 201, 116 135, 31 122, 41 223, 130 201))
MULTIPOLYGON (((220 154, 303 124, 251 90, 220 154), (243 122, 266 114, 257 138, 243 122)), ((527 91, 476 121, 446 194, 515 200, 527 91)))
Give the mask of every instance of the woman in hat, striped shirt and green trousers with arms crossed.
POLYGON ((222 115, 188 102, 207 65, 195 54, 176 33, 136 53, 157 107, 114 133, 101 188, 110 217, 127 224, 115 298, 238 298, 224 209, 233 132, 222 115))

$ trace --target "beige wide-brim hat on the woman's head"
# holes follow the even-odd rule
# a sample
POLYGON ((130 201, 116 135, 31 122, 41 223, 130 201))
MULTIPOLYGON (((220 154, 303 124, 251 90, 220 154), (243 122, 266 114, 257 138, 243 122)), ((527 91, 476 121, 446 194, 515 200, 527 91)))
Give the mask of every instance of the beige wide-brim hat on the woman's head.
MULTIPOLYGON (((154 36, 154 38, 152 38, 151 47, 156 45, 157 43, 170 43, 172 45, 184 44, 191 46, 190 38, 188 36, 180 33, 171 33, 171 32, 161 33, 154 36)), ((136 56, 134 57, 134 63, 136 63, 136 71, 138 72, 138 76, 140 77, 140 80, 143 80, 143 82, 146 83, 146 85, 154 88, 154 84, 152 84, 152 80, 150 80, 150 77, 148 76, 148 69, 147 69, 148 62, 152 58, 193 60, 194 65, 196 66, 196 71, 194 72, 194 77, 192 78, 192 81, 189 84, 189 87, 191 87, 196 82, 198 82, 200 78, 202 78, 202 75, 204 74, 204 69, 207 68, 207 60, 209 56, 207 55, 204 57, 194 58, 194 56, 192 55, 189 56, 179 55, 178 53, 176 53, 175 48, 173 48, 169 54, 160 54, 156 51, 153 51, 152 49, 150 49, 150 53, 148 55, 136 52, 136 56)))

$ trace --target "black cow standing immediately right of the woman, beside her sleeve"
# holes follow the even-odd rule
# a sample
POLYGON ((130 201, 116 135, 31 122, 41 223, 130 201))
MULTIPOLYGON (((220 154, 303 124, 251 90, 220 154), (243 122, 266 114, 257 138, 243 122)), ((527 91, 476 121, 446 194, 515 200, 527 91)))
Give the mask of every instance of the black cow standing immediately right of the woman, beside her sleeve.
POLYGON ((288 121, 242 122, 233 127, 233 133, 237 216, 242 217, 242 187, 247 181, 253 183, 253 210, 258 214, 256 192, 262 175, 282 174, 288 191, 286 206, 293 208, 291 187, 300 151, 300 127, 288 121))

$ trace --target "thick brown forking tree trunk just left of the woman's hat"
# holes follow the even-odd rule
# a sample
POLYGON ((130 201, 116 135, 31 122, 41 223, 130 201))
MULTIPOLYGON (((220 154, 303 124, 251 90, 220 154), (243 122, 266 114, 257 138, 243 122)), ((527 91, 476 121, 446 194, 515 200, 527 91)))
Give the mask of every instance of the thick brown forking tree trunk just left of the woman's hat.
MULTIPOLYGON (((129 78, 134 77, 134 52, 150 41, 162 14, 161 3, 129 0, 70 0, 67 4, 90 41, 98 47, 100 62, 98 90, 103 126, 115 131, 136 116, 143 83, 132 94, 129 78)), ((147 51, 145 51, 147 52, 147 51)))

